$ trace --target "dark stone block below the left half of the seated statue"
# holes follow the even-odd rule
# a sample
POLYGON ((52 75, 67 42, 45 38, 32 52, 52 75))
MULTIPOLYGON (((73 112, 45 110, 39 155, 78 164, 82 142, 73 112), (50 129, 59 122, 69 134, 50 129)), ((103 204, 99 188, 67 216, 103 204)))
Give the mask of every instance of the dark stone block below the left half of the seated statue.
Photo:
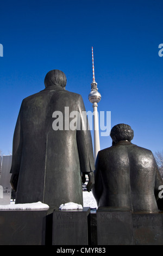
POLYGON ((131 211, 126 208, 97 209, 97 245, 133 245, 131 211))

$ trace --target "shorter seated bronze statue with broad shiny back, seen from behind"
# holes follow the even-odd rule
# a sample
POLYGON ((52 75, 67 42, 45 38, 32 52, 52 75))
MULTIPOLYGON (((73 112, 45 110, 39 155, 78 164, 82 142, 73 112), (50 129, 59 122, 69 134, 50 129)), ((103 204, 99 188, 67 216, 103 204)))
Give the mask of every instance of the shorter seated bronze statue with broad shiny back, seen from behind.
POLYGON ((158 212, 159 202, 163 210, 158 197, 163 180, 152 152, 131 143, 134 131, 129 125, 115 125, 110 136, 112 146, 99 151, 96 160, 92 192, 97 205, 158 212))

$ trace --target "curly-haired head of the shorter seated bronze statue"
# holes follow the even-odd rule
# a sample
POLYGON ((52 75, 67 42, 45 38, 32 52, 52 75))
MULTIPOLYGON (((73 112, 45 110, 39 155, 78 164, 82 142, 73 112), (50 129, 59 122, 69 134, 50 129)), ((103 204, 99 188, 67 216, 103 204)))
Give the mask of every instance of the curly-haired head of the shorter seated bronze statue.
POLYGON ((127 124, 117 124, 112 127, 110 132, 112 138, 112 144, 116 144, 119 141, 131 141, 134 137, 134 131, 127 124))

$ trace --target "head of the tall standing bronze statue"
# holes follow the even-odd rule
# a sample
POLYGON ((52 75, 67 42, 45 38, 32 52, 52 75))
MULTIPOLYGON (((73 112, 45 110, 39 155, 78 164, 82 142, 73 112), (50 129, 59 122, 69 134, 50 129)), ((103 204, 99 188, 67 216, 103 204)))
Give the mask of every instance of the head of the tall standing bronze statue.
POLYGON ((49 71, 46 74, 45 80, 44 80, 45 87, 55 85, 55 86, 61 86, 64 89, 66 87, 66 82, 67 82, 66 75, 64 74, 64 72, 58 69, 49 71))

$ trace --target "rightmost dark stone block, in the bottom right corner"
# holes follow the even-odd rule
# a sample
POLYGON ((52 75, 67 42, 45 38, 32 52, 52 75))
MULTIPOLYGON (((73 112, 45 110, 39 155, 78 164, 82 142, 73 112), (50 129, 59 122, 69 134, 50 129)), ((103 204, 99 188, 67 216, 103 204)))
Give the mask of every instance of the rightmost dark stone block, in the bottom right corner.
POLYGON ((132 216, 135 245, 163 245, 163 212, 132 216))

